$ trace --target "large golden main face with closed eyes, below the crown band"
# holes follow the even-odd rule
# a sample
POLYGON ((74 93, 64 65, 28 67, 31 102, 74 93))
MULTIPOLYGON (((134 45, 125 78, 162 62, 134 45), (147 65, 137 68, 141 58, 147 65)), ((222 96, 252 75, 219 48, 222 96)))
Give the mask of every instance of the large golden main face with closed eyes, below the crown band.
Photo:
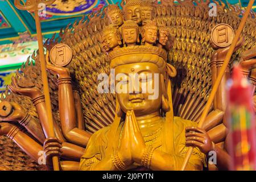
POLYGON ((125 113, 127 110, 134 110, 135 115, 139 116, 159 111, 162 104, 162 82, 155 64, 120 65, 115 68, 115 75, 117 100, 125 113), (130 93, 122 93, 124 88, 130 90, 130 93))

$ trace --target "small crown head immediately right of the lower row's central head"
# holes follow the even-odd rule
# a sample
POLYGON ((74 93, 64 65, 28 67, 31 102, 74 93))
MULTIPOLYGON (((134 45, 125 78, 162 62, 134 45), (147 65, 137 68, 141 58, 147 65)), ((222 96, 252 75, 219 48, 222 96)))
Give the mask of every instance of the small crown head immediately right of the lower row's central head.
POLYGON ((145 46, 153 46, 158 39, 158 27, 156 22, 147 20, 147 23, 142 27, 142 42, 145 46))

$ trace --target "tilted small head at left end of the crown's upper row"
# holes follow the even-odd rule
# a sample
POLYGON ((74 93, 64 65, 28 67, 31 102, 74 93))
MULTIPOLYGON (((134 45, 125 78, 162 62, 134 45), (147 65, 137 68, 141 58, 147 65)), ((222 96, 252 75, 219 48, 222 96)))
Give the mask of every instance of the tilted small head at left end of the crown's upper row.
POLYGON ((117 27, 122 26, 123 24, 123 14, 118 5, 109 5, 106 11, 110 22, 117 27))

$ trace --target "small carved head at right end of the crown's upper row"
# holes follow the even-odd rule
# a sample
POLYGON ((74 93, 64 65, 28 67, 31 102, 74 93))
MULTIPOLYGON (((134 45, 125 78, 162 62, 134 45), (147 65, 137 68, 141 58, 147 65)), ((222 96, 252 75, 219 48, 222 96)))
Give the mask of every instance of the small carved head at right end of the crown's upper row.
POLYGON ((147 23, 147 20, 152 20, 152 1, 145 0, 141 3, 141 21, 142 25, 147 23))

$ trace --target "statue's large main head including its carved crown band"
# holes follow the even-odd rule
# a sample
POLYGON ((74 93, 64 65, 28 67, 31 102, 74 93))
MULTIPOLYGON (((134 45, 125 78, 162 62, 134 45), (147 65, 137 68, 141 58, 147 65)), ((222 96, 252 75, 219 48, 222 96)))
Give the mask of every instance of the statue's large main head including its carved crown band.
POLYGON ((110 57, 110 67, 115 70, 115 93, 123 113, 134 110, 139 116, 169 109, 167 54, 162 48, 125 47, 111 52, 110 57))

